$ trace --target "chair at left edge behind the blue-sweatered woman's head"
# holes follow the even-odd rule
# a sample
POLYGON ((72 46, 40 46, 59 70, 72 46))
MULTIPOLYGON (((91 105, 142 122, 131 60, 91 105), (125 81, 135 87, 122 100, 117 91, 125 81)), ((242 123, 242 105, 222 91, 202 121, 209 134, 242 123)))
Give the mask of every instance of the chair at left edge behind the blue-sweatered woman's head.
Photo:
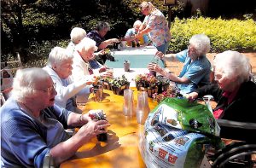
POLYGON ((22 68, 22 63, 18 52, 15 55, 14 61, 1 62, 1 106, 9 97, 15 72, 20 68, 22 68))

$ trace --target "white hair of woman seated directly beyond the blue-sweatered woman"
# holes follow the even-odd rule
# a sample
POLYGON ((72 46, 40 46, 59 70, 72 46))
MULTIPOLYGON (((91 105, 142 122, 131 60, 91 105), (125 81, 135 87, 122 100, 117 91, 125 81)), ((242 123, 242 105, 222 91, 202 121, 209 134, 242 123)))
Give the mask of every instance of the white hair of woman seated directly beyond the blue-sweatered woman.
POLYGON ((67 61, 73 59, 73 55, 67 54, 67 49, 63 49, 61 47, 55 47, 51 49, 47 61, 47 65, 49 67, 53 67, 54 65, 61 65, 63 61, 67 61))

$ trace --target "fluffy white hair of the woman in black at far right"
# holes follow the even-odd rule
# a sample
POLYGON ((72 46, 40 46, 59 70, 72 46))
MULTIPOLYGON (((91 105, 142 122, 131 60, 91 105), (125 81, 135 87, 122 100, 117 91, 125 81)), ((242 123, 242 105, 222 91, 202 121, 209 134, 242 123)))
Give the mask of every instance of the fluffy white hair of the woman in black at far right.
POLYGON ((225 78, 236 78, 236 84, 249 80, 251 65, 245 55, 237 51, 224 51, 216 55, 214 67, 223 71, 225 78))

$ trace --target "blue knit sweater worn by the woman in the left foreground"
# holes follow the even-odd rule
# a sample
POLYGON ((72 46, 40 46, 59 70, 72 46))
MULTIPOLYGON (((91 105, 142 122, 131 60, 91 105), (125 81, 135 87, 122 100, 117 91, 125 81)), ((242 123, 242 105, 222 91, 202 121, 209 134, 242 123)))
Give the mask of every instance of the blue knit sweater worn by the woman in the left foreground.
POLYGON ((1 111, 1 167, 42 167, 50 148, 67 140, 67 118, 71 113, 49 107, 35 118, 11 97, 1 111))

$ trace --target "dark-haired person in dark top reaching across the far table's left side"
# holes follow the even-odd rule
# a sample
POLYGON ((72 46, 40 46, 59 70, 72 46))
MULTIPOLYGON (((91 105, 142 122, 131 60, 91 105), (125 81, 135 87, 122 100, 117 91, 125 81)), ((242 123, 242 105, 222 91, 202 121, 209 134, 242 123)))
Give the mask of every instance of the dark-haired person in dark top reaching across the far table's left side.
MULTIPOLYGON (((96 41, 96 46, 98 47, 98 50, 102 50, 108 47, 108 45, 119 42, 118 38, 110 38, 106 40, 104 37, 108 31, 110 31, 110 26, 108 25, 108 22, 100 21, 97 23, 95 30, 87 34, 87 37, 96 41)), ((96 61, 104 65, 107 61, 107 55, 97 55, 96 61)))

